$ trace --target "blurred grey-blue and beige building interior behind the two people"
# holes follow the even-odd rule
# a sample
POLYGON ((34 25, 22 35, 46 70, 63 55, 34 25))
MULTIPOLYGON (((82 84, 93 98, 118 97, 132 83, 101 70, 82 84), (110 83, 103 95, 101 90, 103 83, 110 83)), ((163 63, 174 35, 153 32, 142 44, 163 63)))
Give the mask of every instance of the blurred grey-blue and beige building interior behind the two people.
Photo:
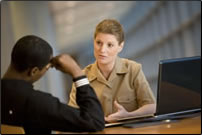
MULTIPOLYGON (((106 18, 123 25, 120 57, 142 64, 155 96, 160 60, 201 56, 201 1, 3 1, 1 77, 15 42, 28 34, 48 41, 54 55, 71 54, 82 68, 93 63, 94 30, 106 18)), ((35 88, 67 102, 71 85, 69 75, 50 69, 35 88)))

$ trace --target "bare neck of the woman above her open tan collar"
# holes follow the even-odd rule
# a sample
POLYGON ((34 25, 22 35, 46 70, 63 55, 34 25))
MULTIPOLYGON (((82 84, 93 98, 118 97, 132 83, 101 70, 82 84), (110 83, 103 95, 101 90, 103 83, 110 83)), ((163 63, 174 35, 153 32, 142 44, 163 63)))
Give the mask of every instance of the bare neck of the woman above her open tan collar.
POLYGON ((109 79, 109 76, 114 68, 115 61, 110 64, 100 64, 98 63, 98 68, 100 69, 102 75, 105 77, 106 80, 109 79))

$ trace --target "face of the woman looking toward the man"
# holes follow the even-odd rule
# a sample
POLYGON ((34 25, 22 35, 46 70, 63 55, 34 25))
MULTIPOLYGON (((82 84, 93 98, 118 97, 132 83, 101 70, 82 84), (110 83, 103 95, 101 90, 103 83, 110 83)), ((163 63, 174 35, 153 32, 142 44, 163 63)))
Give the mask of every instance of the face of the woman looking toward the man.
POLYGON ((123 42, 119 45, 118 40, 112 34, 98 33, 94 39, 94 55, 98 64, 111 64, 115 61, 123 48, 123 42))

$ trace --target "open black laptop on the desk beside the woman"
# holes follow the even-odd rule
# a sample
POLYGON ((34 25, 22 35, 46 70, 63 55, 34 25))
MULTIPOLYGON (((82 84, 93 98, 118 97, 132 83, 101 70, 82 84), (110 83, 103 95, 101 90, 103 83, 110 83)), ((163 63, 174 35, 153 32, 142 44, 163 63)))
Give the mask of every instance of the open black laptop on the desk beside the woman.
POLYGON ((201 56, 161 60, 157 90, 155 114, 122 118, 105 124, 105 127, 159 121, 200 112, 201 56))

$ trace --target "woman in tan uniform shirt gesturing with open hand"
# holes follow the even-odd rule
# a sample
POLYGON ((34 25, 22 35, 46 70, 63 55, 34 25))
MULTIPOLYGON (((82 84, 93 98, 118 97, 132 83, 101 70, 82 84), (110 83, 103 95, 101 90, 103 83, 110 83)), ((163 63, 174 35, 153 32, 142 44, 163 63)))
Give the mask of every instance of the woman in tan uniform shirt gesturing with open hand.
MULTIPOLYGON (((141 64, 118 57, 124 47, 124 32, 116 20, 100 22, 94 34, 95 63, 84 71, 105 113, 105 121, 153 114, 155 98, 141 64)), ((77 107, 73 86, 69 105, 77 107)))

